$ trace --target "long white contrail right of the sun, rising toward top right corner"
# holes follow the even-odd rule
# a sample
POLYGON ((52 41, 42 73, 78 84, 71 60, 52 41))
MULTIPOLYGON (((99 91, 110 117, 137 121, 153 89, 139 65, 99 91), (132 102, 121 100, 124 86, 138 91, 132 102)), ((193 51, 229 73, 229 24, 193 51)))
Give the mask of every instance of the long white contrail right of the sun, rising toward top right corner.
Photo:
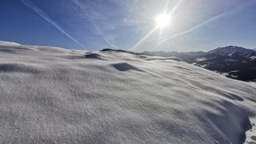
POLYGON ((172 39, 172 38, 175 38, 176 36, 180 36, 180 35, 182 35, 182 34, 186 34, 186 33, 188 33, 188 32, 192 32, 192 31, 195 30, 195 29, 198 29, 198 28, 200 28, 200 27, 203 27, 204 25, 206 25, 207 23, 213 21, 214 19, 218 19, 218 18, 224 17, 224 16, 226 16, 227 14, 233 12, 233 10, 236 10, 236 9, 238 9, 238 8, 243 8, 244 6, 247 6, 247 5, 249 5, 250 3, 253 3, 253 2, 255 2, 255 1, 256 1, 256 0, 253 0, 253 1, 250 1, 250 2, 248 2, 248 3, 245 3, 244 5, 236 6, 235 8, 232 8, 231 10, 228 10, 227 12, 224 12, 224 13, 222 13, 222 14, 219 14, 218 16, 214 16, 213 18, 208 19, 207 21, 204 21, 203 23, 200 23, 199 25, 196 25, 195 27, 192 27, 192 28, 190 28, 190 29, 188 29, 188 30, 185 30, 184 32, 179 32, 179 33, 177 33, 177 34, 172 34, 172 35, 170 35, 170 36, 164 36, 164 37, 162 37, 162 38, 155 38, 155 39, 147 40, 146 42, 150 42, 150 41, 153 41, 153 40, 162 40, 162 39, 164 39, 164 40, 160 41, 160 43, 162 43, 162 42, 164 42, 164 41, 166 41, 166 40, 170 40, 170 39, 172 39))

